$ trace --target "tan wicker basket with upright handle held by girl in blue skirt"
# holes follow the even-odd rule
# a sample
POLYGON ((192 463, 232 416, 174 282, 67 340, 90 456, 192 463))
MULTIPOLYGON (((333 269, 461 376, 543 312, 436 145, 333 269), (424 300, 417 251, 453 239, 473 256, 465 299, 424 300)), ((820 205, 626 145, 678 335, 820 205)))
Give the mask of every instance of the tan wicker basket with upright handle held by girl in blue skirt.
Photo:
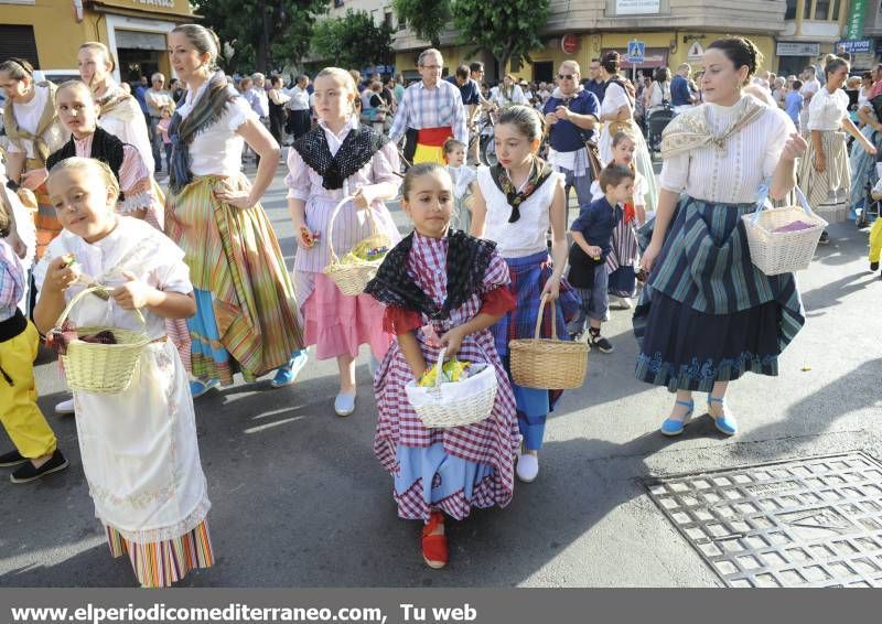
POLYGON ((524 388, 560 389, 579 388, 588 372, 588 345, 583 342, 559 341, 557 312, 551 302, 551 338, 540 338, 542 315, 548 295, 542 297, 536 332, 531 338, 508 343, 512 357, 512 378, 524 388))

